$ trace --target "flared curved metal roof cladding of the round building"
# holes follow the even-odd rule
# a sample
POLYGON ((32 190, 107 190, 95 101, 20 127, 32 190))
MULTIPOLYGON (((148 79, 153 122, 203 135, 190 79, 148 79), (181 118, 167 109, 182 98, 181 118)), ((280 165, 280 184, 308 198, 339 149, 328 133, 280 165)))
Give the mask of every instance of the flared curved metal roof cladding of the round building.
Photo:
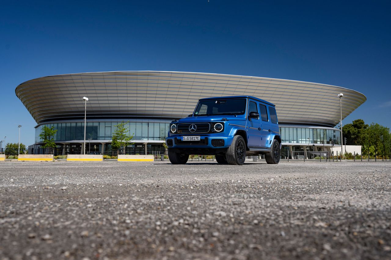
POLYGON ((88 119, 175 119, 191 114, 200 98, 255 96, 276 105, 282 124, 335 126, 343 93, 343 118, 366 97, 354 90, 276 78, 174 71, 112 71, 54 75, 28 80, 16 96, 39 124, 88 119))

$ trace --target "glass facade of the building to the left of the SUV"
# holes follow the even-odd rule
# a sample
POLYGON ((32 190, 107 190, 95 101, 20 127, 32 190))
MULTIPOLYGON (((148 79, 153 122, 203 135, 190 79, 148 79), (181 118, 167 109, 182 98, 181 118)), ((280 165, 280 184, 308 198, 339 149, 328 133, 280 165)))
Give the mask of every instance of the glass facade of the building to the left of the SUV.
MULTIPOLYGON (((121 122, 87 122, 86 139, 111 140, 115 125, 121 122)), ((170 123, 128 122, 125 127, 129 129, 132 140, 163 141, 167 137, 170 123)), ((84 122, 52 123, 39 125, 35 128, 35 142, 40 142, 39 134, 44 126, 54 127, 57 130, 54 141, 84 140, 84 122)))

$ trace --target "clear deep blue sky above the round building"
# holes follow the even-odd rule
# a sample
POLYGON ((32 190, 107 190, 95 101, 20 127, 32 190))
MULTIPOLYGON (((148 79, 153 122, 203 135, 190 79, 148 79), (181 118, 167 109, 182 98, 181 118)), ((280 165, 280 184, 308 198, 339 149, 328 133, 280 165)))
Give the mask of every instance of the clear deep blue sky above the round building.
POLYGON ((337 85, 367 97, 344 124, 391 127, 390 14, 389 1, 2 1, 0 137, 18 142, 20 124, 21 142, 34 143, 18 84, 119 70, 337 85))

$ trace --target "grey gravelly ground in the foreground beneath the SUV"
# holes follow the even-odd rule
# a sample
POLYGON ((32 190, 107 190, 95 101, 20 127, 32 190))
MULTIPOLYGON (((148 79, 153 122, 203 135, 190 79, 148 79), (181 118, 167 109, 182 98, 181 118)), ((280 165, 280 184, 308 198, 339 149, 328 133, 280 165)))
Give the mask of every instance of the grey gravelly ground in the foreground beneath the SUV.
POLYGON ((390 259, 390 162, 0 162, 0 259, 390 259))

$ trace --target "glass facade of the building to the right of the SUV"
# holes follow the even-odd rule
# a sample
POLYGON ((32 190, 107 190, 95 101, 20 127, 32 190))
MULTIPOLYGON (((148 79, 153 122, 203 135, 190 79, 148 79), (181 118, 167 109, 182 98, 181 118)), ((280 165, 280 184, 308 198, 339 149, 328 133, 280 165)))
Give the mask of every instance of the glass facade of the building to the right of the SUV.
POLYGON ((339 130, 322 128, 280 127, 282 143, 293 144, 341 144, 339 130))

